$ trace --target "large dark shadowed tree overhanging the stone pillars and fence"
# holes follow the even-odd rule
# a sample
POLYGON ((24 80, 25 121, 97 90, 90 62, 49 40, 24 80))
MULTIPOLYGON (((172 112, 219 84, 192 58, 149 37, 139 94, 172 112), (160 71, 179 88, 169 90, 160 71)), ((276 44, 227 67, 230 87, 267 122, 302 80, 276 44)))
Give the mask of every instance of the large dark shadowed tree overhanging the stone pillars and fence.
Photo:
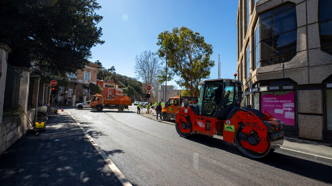
POLYGON ((8 63, 52 76, 83 69, 90 49, 104 43, 100 8, 97 0, 1 0, 0 43, 12 49, 8 63))

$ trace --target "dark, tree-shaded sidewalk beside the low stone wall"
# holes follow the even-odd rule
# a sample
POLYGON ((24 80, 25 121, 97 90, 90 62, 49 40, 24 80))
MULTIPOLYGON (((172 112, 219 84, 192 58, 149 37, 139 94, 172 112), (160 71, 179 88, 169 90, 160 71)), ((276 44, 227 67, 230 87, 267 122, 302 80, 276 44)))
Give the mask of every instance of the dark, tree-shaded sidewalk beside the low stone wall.
POLYGON ((74 119, 60 112, 45 132, 28 132, 0 155, 0 185, 122 184, 74 119))

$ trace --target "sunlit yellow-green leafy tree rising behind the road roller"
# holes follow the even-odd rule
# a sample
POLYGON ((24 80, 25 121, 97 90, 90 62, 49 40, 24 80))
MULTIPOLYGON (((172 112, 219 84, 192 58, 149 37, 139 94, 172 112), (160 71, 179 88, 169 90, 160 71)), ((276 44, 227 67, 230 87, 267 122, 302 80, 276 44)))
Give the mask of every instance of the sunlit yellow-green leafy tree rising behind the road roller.
MULTIPOLYGON (((165 58, 167 53, 168 80, 174 75, 179 76, 175 82, 192 93, 199 95, 199 82, 209 78, 210 69, 214 61, 212 45, 204 41, 204 37, 198 32, 182 26, 180 29, 174 27, 172 32, 164 31, 158 35, 157 45, 159 57, 165 58)), ((165 81, 165 76, 159 76, 165 81)))

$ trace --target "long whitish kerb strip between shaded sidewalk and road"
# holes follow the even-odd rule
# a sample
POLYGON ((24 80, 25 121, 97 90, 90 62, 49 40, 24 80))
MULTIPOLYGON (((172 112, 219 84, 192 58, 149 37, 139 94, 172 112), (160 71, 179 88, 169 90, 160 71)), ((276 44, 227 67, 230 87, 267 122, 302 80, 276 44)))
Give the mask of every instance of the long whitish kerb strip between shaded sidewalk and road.
MULTIPOLYGON (((67 112, 67 111, 66 111, 67 112)), ((108 166, 112 169, 114 174, 118 177, 122 185, 124 186, 132 186, 131 183, 128 181, 128 179, 122 174, 122 172, 119 170, 119 168, 112 162, 111 159, 109 159, 106 155, 106 153, 99 147, 99 145, 95 142, 95 140, 89 135, 89 133, 82 127, 82 125, 76 121, 75 117, 70 114, 69 115, 74 119, 74 121, 77 123, 77 125, 81 128, 83 133, 88 137, 92 145, 96 148, 96 150, 99 152, 99 154, 103 157, 105 162, 108 164, 108 166)))

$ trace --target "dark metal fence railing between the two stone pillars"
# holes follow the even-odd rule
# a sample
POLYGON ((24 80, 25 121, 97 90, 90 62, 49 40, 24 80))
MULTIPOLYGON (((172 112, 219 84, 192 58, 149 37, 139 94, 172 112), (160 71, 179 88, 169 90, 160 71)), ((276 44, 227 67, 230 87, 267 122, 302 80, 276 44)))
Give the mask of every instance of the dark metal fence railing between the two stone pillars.
POLYGON ((19 70, 7 64, 3 114, 13 113, 18 110, 21 77, 19 70))

